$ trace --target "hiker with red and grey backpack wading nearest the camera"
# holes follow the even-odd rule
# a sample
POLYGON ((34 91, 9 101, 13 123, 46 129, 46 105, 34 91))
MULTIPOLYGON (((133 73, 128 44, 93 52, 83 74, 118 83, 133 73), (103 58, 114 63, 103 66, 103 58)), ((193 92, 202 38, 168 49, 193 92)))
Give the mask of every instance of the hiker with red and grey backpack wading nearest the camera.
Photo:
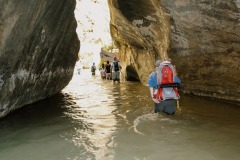
POLYGON ((173 115, 176 111, 176 100, 179 94, 177 87, 181 81, 176 76, 176 69, 169 61, 156 61, 155 72, 149 76, 148 87, 154 102, 154 112, 173 115))

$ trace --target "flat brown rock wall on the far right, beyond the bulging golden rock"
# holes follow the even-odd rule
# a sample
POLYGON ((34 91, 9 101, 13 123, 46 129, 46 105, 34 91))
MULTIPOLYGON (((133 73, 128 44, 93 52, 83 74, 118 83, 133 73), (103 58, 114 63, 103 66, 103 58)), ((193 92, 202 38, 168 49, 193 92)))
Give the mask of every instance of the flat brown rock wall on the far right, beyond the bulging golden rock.
POLYGON ((162 0, 172 17, 169 56, 184 90, 240 102, 240 13, 232 0, 162 0))

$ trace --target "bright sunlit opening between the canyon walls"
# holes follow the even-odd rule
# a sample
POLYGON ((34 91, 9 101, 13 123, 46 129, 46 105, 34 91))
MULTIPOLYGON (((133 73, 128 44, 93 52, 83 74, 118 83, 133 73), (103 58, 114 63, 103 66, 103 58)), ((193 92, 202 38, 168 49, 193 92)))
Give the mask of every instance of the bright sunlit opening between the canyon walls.
MULTIPOLYGON (((93 62, 101 62, 101 49, 113 51, 110 35, 110 13, 107 0, 76 0, 75 18, 77 34, 80 40, 79 60, 83 67, 90 67, 93 62)), ((115 52, 115 51, 113 51, 115 52)))

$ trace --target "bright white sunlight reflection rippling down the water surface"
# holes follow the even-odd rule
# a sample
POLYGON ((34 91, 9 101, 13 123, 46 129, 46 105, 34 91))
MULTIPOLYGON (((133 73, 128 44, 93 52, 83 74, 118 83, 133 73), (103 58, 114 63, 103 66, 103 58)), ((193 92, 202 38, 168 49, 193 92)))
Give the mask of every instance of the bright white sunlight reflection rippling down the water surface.
POLYGON ((119 94, 117 89, 119 87, 115 89, 116 91, 112 91, 111 83, 102 86, 102 81, 90 74, 86 74, 83 78, 85 78, 83 81, 79 81, 79 77, 76 77, 72 80, 72 85, 63 91, 75 97, 73 100, 75 104, 67 106, 68 111, 65 115, 78 123, 83 123, 74 128, 72 140, 76 146, 82 148, 81 154, 86 155, 85 158, 89 158, 90 155, 95 159, 104 157, 113 159, 112 137, 117 121, 112 114, 115 109, 115 96, 112 95, 119 94))

